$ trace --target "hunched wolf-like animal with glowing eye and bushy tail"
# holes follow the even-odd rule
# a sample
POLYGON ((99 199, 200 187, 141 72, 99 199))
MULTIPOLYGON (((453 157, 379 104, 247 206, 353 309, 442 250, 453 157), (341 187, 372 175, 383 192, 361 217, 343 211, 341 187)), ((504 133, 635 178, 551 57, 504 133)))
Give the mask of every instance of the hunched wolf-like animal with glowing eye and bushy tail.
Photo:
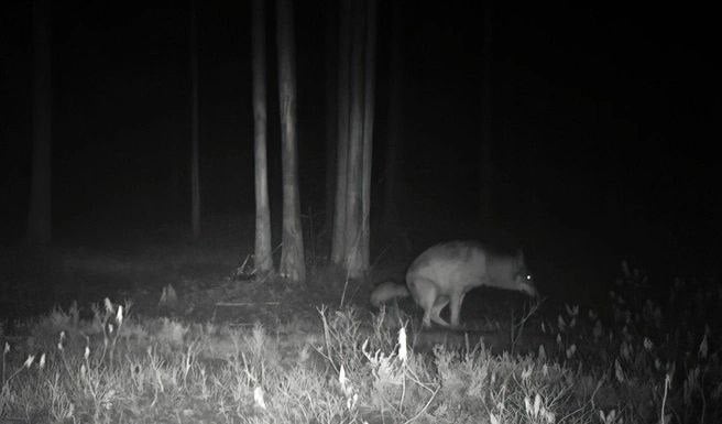
POLYGON ((482 285, 537 296, 521 250, 510 254, 475 241, 448 241, 428 248, 412 262, 406 271, 406 286, 393 282, 379 285, 371 293, 371 304, 378 307, 411 295, 424 309, 425 327, 430 327, 431 322, 458 327, 464 295, 482 285), (447 305, 450 325, 440 316, 447 305))

